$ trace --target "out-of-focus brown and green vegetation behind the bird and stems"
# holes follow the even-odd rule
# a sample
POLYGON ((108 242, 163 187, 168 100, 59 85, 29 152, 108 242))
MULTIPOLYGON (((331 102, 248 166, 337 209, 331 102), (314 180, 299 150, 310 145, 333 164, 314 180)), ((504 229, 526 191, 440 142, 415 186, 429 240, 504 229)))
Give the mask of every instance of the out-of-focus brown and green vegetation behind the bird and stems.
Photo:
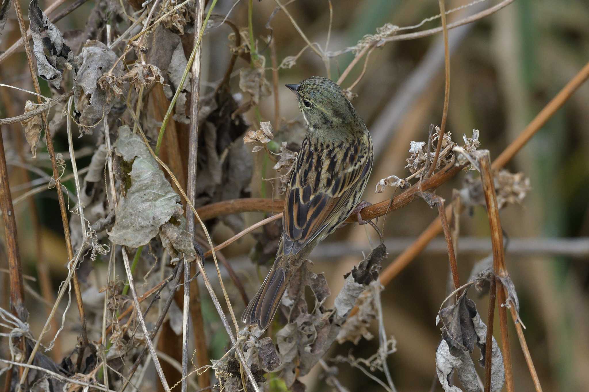
MULTIPOLYGON (((285 1, 286 2, 286 1, 285 1)), ((44 9, 50 1, 42 1, 44 9)), ((231 11, 230 19, 239 27, 248 25, 248 2, 241 1, 231 11)), ((27 2, 21 2, 23 9, 27 2)), ((467 1, 448 0, 446 9, 467 4, 467 1)), ((464 18, 475 11, 495 4, 481 2, 456 11, 448 16, 449 22, 464 18)), ((84 29, 88 14, 95 3, 90 0, 71 15, 57 23, 62 32, 84 29)), ((225 15, 233 1, 220 0, 215 13, 225 15)), ((333 22, 330 33, 329 51, 353 46, 363 35, 376 32, 386 23, 399 26, 415 25, 424 18, 439 13, 437 1, 400 0, 337 0, 332 2, 333 22)), ((260 56, 266 67, 272 66, 270 51, 266 44, 271 36, 276 48, 278 63, 286 56, 293 56, 306 43, 297 33, 289 18, 278 12, 272 19, 273 30, 266 23, 276 3, 270 0, 253 2, 253 32, 257 39, 260 56)), ((330 24, 330 5, 327 0, 298 0, 287 6, 302 31, 312 42, 327 39, 330 24)), ((14 11, 11 11, 14 14, 14 11)), ((456 142, 462 134, 471 136, 473 129, 479 129, 482 148, 491 151, 491 158, 513 140, 535 114, 542 109, 555 93, 560 91, 589 59, 589 1, 586 0, 517 0, 488 18, 449 32, 451 45, 451 88, 449 117, 446 132, 452 132, 456 142)), ((439 19, 428 22, 421 28, 439 25, 439 19)), ((213 82, 223 77, 225 65, 230 57, 227 50, 229 29, 219 28, 204 37, 202 91, 213 91, 213 82)), ((18 25, 11 14, 1 36, 0 51, 4 51, 19 36, 18 25)), ((352 53, 333 58, 330 61, 331 78, 336 80, 353 59, 352 53)), ((359 62, 342 83, 347 88, 362 72, 364 60, 359 62)), ((236 70, 249 64, 238 59, 236 70)), ((326 76, 321 59, 307 49, 290 69, 279 70, 279 82, 298 83, 312 75, 326 76)), ((269 69, 267 79, 272 80, 269 69)), ((26 57, 21 50, 2 63, 0 81, 20 88, 32 89, 26 57)), ((49 95, 47 83, 39 79, 42 92, 49 95)), ((231 91, 239 92, 239 77, 231 79, 231 91)), ((439 124, 444 98, 444 59, 441 35, 386 43, 370 54, 366 73, 353 89, 358 96, 352 103, 366 122, 375 140, 378 156, 375 160, 365 200, 377 202, 391 197, 392 190, 375 194, 373 190, 379 179, 397 175, 407 176, 403 167, 408 158, 409 142, 426 139, 430 123, 439 124)), ((0 88, 1 117, 15 116, 22 112, 26 93, 0 88)), ((279 89, 279 115, 286 120, 299 119, 300 114, 292 93, 286 88, 279 89)), ((274 121, 274 100, 272 96, 246 113, 254 129, 259 129, 259 120, 274 121)), ((64 127, 56 129, 55 149, 67 151, 67 137, 64 127)), ((5 148, 13 151, 20 148, 25 155, 19 158, 13 153, 9 159, 11 170, 12 197, 30 189, 29 181, 51 173, 47 150, 39 146, 38 158, 32 160, 27 148, 22 147, 21 127, 2 127, 5 148), (19 140, 20 139, 20 140, 19 140), (20 146, 20 147, 19 147, 20 146), (8 148, 7 148, 8 149, 8 148), (27 172, 27 174, 25 174, 27 172)), ((296 141, 296 135, 278 134, 280 140, 296 141)), ((96 136, 75 139, 78 167, 90 163, 96 136), (85 152, 85 156, 84 156, 85 152)), ((240 139, 237 140, 240 142, 240 139)), ((501 212, 505 235, 515 243, 517 239, 589 239, 589 83, 581 86, 550 121, 508 164, 512 172, 523 172, 530 177, 531 191, 521 205, 509 205, 501 212)), ((254 176, 250 192, 252 197, 271 197, 272 187, 262 178, 276 177, 267 162, 264 152, 253 153, 254 176)), ((71 166, 65 175, 71 173, 71 166)), ((452 188, 461 187, 465 174, 446 183, 438 194, 451 200, 452 188)), ((73 183, 64 185, 75 192, 73 183)), ((277 195, 275 195, 278 197, 277 195)), ((65 269, 64 238, 55 190, 45 190, 33 198, 38 210, 38 226, 42 238, 44 257, 48 262, 52 287, 57 290, 64 279, 65 269)), ((37 254, 35 253, 35 218, 27 200, 15 206, 21 244, 24 273, 38 277, 37 254)), ((402 250, 402 244, 414 239, 437 216, 423 200, 380 218, 378 225, 384 227, 386 240, 397 246, 389 247, 390 262, 402 250), (396 242, 395 242, 396 241, 396 242)), ((247 224, 262 219, 261 213, 244 214, 247 224)), ((220 243, 233 232, 219 224, 214 227, 214 241, 220 243)), ((489 225, 483 207, 476 207, 462 215, 461 237, 465 243, 476 238, 487 239, 482 249, 458 252, 461 278, 466 278, 472 266, 490 252, 489 225)), ((442 239, 440 236, 438 239, 442 239)), ((343 284, 342 276, 370 249, 370 240, 377 241, 372 229, 366 226, 348 225, 326 240, 312 254, 315 272, 325 272, 332 293, 337 293, 343 284), (339 254, 330 257, 329 243, 347 249, 348 256, 339 254)), ((244 237, 231 244, 225 256, 233 264, 239 276, 247 282, 250 296, 259 284, 256 270, 247 254, 254 246, 253 236, 244 237)), ((460 242, 459 242, 460 243, 460 242)), ((530 242, 533 243, 533 242, 530 242)), ((538 243, 538 242, 536 242, 538 243)), ((439 244, 439 242, 438 242, 439 244)), ((524 242, 519 242, 524 244, 524 242)), ((446 276, 448 256, 444 247, 429 249, 420 254, 383 291, 383 311, 386 331, 395 336, 396 353, 389 357, 393 380, 399 391, 441 390, 435 378, 435 350, 440 335, 435 326, 435 317, 441 301, 446 297, 446 276), (438 250, 436 250, 438 249, 438 250), (432 389, 431 389, 432 388, 432 389)), ((585 249, 587 247, 585 246, 585 249)), ((346 253, 346 252, 344 252, 346 253)), ((571 252, 574 253, 574 252, 571 252)), ((146 256, 147 257, 147 256, 146 256)), ((5 260, 5 254, 0 252, 5 260)), ((2 260, 1 267, 6 263, 2 260)), ((153 259, 151 259, 153 260, 153 259)), ((105 264, 98 260, 98 264, 105 264)), ((151 263, 151 262, 150 262, 151 263)), ((385 262, 386 264, 386 262, 385 262)), ((535 249, 507 249, 507 266, 521 303, 521 319, 527 329, 525 334, 532 359, 538 370, 545 391, 580 391, 589 385, 589 256, 587 252, 567 254, 566 250, 537 252, 535 249)), ((265 270, 259 271, 265 275, 265 270)), ((8 280, 3 278, 4 303, 8 301, 8 280)), ((38 282, 28 282, 39 292, 38 282)), ((83 282, 83 289, 89 289, 92 280, 83 282)), ((201 291, 202 292, 202 291, 201 291)), ((234 293, 234 290, 232 292, 234 293)), ((55 293, 53 294, 55 295, 55 293)), ((44 305, 28 293, 27 306, 31 313, 32 329, 39 331, 45 320, 44 305), (41 317, 41 315, 43 315, 41 317)), ((477 298, 479 313, 487 314, 487 295, 477 298)), ((88 306, 92 306, 90 300, 88 306)), ((236 313, 241 303, 235 302, 236 313)), ((101 307, 101 303, 94 304, 101 307)), ((75 308, 75 306, 73 307, 75 308)), ((208 297, 203 296, 203 315, 209 334, 211 358, 219 358, 230 346, 229 340, 219 328, 219 319, 208 297)), ((70 309, 68 321, 77 322, 76 309, 70 309)), ((499 319, 495 317, 495 336, 499 340, 499 319)), ((376 323, 374 334, 376 331, 376 323)), ((68 331, 72 339, 61 340, 61 350, 72 350, 78 330, 68 331)), ((531 378, 522 356, 512 323, 509 323, 511 353, 517 391, 533 390, 531 378)), ((356 357, 368 357, 378 349, 378 341, 360 341, 358 346, 351 343, 335 347, 328 355, 346 355, 350 350, 356 357)), ((339 364, 337 378, 350 391, 380 390, 378 384, 367 384, 368 379, 347 364, 339 364)), ((317 369, 305 378, 307 390, 326 390, 325 382, 317 369)), ((383 377, 382 374, 377 374, 383 377)))

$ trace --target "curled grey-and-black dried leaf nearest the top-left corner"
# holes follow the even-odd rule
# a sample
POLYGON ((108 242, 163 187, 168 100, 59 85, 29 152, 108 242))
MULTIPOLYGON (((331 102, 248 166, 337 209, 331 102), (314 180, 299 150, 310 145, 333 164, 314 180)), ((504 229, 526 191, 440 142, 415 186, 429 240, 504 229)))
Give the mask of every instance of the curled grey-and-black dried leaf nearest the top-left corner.
POLYGON ((42 79, 59 88, 64 68, 72 68, 70 63, 74 53, 65 44, 59 29, 41 11, 38 0, 32 0, 29 4, 29 21, 37 72, 42 79))

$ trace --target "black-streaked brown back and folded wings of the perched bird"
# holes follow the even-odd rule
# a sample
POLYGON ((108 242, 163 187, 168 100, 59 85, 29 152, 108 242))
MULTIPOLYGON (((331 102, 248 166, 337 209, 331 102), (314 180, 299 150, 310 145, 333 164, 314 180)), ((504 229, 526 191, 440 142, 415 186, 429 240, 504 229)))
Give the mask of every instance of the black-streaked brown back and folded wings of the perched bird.
POLYGON ((284 254, 299 253, 324 230, 339 226, 372 168, 372 155, 361 144, 326 147, 313 150, 303 143, 297 156, 284 199, 284 254))

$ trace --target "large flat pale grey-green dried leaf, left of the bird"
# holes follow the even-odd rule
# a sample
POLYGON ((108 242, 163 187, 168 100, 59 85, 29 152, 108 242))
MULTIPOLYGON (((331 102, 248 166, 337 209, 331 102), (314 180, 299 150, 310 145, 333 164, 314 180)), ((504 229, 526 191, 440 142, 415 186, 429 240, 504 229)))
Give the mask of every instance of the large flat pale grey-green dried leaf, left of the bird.
POLYGON ((178 196, 164 177, 140 136, 128 126, 118 129, 115 151, 132 163, 131 186, 121 197, 115 224, 108 236, 115 244, 138 247, 157 235, 174 213, 181 215, 178 196))

